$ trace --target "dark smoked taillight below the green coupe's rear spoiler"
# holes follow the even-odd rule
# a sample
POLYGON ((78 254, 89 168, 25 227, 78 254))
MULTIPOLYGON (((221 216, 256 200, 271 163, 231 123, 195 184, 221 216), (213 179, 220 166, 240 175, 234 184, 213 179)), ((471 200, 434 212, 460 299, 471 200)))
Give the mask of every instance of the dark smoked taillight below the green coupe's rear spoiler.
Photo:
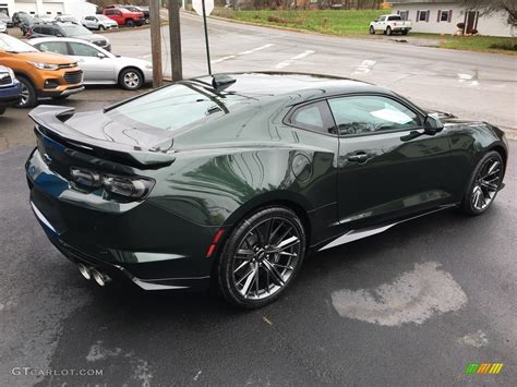
POLYGON ((71 180, 80 185, 104 188, 109 194, 135 199, 147 196, 155 185, 155 181, 148 178, 116 176, 80 167, 71 167, 70 176, 71 180))

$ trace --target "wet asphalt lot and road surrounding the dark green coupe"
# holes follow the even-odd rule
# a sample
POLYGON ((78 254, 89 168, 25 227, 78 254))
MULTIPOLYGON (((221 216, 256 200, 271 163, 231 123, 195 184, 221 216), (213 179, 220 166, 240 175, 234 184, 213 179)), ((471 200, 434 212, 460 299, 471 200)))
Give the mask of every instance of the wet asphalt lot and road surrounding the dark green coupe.
MULTIPOLYGON (((192 16, 184 20, 184 72, 202 74, 201 29, 192 16)), ((515 136, 515 59, 481 55, 470 65, 469 52, 411 53, 392 43, 293 33, 279 39, 281 32, 224 22, 214 22, 213 34, 215 71, 359 77, 430 108, 491 121, 515 136), (228 36, 232 28, 240 28, 239 41, 228 36), (397 64, 400 56, 409 63, 397 64)), ((115 52, 148 58, 148 31, 109 38, 115 52)), ((60 104, 84 111, 133 95, 89 87, 60 104)), ((312 255, 278 302, 243 312, 214 291, 146 293, 123 282, 100 289, 85 281, 31 211, 24 162, 34 137, 26 113, 11 109, 0 117, 1 386, 515 384, 512 155, 506 188, 486 215, 447 210, 312 255), (504 368, 500 375, 465 375, 466 365, 477 362, 504 368), (80 370, 97 374, 74 374, 80 370)))

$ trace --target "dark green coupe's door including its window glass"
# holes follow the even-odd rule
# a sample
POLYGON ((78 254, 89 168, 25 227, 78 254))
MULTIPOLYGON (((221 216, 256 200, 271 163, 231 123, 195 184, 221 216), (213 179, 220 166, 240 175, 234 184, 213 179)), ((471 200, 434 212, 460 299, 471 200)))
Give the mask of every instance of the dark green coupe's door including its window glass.
POLYGON ((446 135, 405 140, 411 131, 422 132, 422 117, 390 98, 344 97, 329 105, 340 135, 341 223, 363 227, 452 201, 446 135))

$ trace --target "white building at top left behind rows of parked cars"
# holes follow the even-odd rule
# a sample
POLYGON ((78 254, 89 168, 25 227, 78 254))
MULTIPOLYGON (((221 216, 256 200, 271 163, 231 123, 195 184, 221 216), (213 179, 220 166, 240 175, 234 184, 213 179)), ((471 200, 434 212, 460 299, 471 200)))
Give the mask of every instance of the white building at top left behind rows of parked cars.
POLYGON ((70 14, 83 17, 95 14, 97 5, 86 0, 0 0, 0 12, 12 16, 14 12, 24 11, 33 15, 70 14))

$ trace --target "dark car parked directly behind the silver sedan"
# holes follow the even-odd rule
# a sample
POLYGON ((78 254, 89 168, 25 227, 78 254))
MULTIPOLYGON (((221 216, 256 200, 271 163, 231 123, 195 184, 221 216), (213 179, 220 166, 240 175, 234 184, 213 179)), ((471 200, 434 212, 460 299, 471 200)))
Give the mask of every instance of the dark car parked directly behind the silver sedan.
POLYGON ((82 25, 72 23, 49 23, 34 25, 27 33, 28 38, 38 38, 47 36, 70 37, 93 43, 105 50, 110 51, 111 45, 103 35, 92 34, 92 32, 82 25))

